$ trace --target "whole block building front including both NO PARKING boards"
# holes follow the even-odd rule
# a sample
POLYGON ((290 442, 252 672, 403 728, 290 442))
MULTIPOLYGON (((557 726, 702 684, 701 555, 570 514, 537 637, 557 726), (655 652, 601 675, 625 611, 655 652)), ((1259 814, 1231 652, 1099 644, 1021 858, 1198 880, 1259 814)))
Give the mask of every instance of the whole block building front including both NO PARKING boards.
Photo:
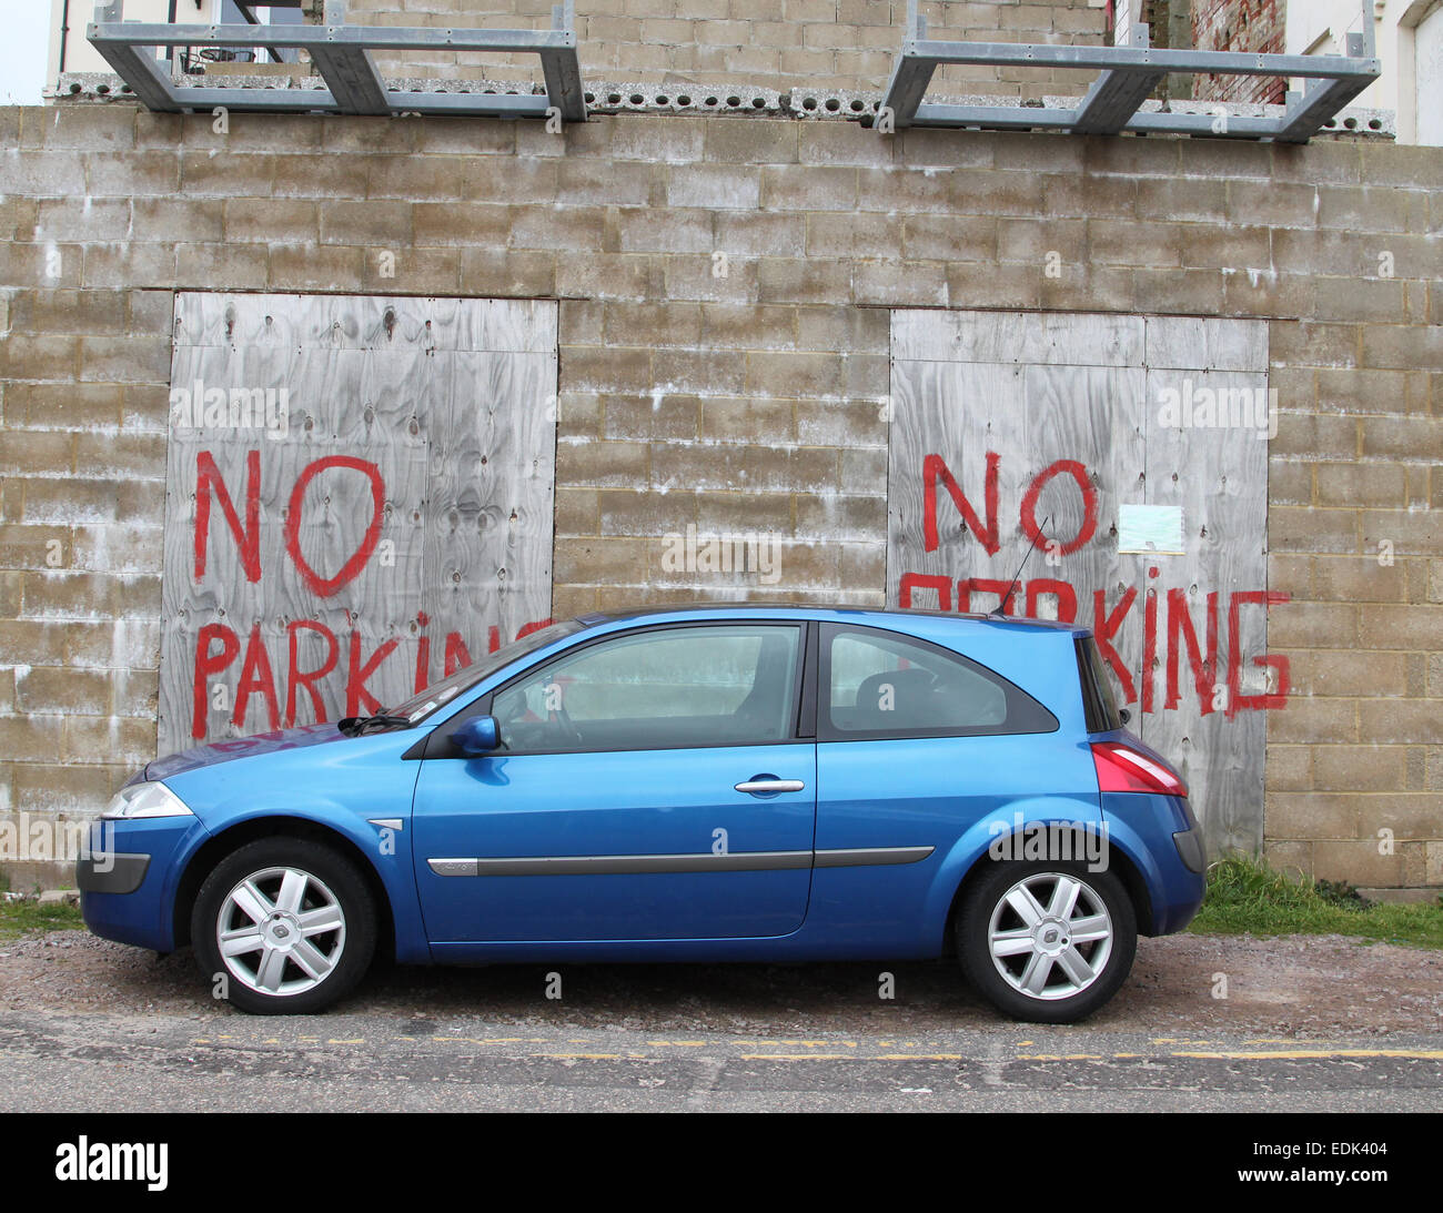
MULTIPOLYGON (((352 16, 550 22, 426 7, 352 16)), ((582 4, 642 97, 584 123, 0 111, 6 837, 547 617, 1007 599, 1108 639, 1215 851, 1443 886, 1443 153, 885 134, 903 7, 582 4)), ((537 82, 387 66, 473 71, 537 82)))

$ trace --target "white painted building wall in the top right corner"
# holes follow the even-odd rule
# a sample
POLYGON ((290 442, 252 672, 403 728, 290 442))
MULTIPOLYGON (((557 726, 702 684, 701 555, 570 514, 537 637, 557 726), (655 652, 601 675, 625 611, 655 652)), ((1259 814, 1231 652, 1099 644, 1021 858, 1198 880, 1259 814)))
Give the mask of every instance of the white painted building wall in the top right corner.
MULTIPOLYGON (((1289 55, 1343 55, 1349 30, 1362 29, 1362 0, 1293 0, 1289 55)), ((1382 76, 1355 105, 1392 110, 1398 143, 1443 144, 1443 0, 1375 0, 1374 35, 1382 76)), ((1293 88, 1300 82, 1294 81, 1293 88)))

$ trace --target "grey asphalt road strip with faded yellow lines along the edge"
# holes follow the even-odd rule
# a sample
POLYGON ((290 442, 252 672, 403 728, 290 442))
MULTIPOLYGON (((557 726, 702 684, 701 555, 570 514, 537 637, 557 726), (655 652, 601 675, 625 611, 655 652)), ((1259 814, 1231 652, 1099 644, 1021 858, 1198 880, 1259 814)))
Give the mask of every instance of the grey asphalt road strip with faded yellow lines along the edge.
POLYGON ((1443 1108, 1443 1036, 1183 1040, 999 1025, 655 1036, 476 1018, 7 1014, 0 1108, 270 1111, 1330 1111, 1443 1108), (218 1031, 216 1028, 224 1028, 218 1031))

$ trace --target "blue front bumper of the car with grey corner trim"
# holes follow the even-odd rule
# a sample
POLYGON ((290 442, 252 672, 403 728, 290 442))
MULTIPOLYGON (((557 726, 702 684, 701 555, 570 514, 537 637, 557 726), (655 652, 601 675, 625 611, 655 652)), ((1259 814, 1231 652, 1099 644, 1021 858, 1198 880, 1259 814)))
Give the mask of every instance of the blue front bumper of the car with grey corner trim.
POLYGON ((185 860, 206 838, 195 818, 97 821, 75 861, 85 926, 101 939, 175 950, 175 899, 185 860))

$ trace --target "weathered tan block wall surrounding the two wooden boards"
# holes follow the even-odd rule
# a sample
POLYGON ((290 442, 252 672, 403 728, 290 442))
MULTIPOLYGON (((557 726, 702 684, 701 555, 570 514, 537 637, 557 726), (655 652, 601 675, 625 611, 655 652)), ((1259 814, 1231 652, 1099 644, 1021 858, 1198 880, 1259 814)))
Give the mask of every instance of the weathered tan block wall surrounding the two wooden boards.
POLYGON ((880 603, 890 306, 1255 316, 1268 852, 1443 883, 1437 149, 111 104, 0 110, 0 815, 153 754, 176 288, 561 299, 557 614, 707 593, 688 522, 784 537, 759 594, 880 603))

